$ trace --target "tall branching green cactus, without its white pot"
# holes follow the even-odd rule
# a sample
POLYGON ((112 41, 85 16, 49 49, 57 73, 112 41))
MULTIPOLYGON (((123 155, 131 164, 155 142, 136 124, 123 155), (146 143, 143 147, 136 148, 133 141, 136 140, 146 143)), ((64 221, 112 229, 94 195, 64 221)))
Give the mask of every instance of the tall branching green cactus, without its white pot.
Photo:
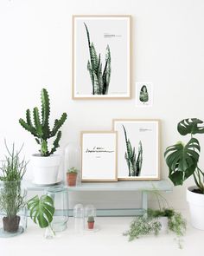
POLYGON ((33 121, 31 120, 30 110, 26 110, 26 121, 22 118, 19 119, 20 124, 23 128, 29 131, 35 136, 35 141, 41 145, 41 155, 48 156, 54 154, 56 148, 59 148, 59 141, 61 140, 61 131, 59 130, 63 123, 67 119, 67 113, 63 113, 61 118, 54 121, 54 128, 49 128, 49 115, 50 115, 50 104, 47 89, 41 89, 41 118, 39 109, 35 107, 33 109, 33 121), (48 150, 48 139, 56 136, 53 142, 53 148, 48 150))

